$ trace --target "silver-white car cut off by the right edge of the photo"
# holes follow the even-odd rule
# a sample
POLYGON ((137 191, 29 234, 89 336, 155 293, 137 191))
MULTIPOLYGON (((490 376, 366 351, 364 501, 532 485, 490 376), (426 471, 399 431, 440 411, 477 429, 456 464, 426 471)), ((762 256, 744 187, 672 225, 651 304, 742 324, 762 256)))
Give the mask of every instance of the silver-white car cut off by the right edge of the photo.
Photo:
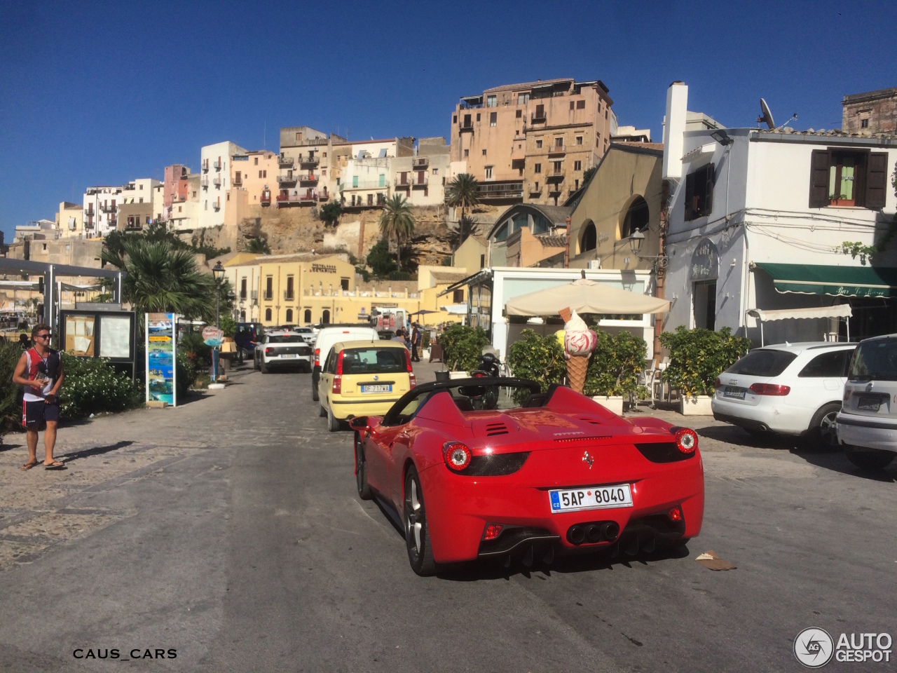
POLYGON ((860 342, 837 420, 851 463, 863 469, 891 464, 897 455, 897 334, 860 342))

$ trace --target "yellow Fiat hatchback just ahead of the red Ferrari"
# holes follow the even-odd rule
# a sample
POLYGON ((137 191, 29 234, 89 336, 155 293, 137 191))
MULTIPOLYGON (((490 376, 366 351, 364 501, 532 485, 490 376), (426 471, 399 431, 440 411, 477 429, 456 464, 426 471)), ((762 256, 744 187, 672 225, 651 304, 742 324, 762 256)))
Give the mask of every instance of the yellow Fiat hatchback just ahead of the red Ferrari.
POLYGON ((320 415, 335 433, 355 416, 381 416, 414 388, 411 354, 397 341, 345 341, 334 344, 318 381, 320 415))

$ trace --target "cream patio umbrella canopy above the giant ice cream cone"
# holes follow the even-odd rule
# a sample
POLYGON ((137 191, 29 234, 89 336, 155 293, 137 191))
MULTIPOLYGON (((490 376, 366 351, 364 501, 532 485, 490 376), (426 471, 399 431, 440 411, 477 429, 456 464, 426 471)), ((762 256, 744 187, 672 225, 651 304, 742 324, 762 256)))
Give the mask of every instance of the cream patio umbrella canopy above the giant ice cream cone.
POLYGON ((505 304, 509 316, 556 316, 562 309, 583 313, 635 315, 666 313, 670 302, 579 278, 572 283, 521 294, 505 304))

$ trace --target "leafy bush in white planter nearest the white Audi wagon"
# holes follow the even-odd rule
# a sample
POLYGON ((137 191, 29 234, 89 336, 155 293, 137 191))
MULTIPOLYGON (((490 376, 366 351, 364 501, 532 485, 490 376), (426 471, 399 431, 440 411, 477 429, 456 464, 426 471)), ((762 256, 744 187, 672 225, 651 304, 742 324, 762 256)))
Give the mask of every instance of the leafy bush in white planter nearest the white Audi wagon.
POLYGON ((730 328, 715 332, 684 326, 660 335, 660 344, 670 352, 664 380, 681 393, 680 412, 684 415, 713 414, 714 380, 751 347, 750 339, 733 337, 730 328))

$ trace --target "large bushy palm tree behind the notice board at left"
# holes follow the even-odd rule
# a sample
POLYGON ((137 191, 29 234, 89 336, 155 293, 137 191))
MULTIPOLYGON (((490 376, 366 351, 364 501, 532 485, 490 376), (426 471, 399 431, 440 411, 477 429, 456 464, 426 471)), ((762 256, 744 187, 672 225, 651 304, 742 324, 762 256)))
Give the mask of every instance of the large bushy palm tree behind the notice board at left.
POLYGON ((122 301, 130 303, 138 315, 173 312, 187 318, 214 319, 214 279, 196 268, 190 250, 135 239, 124 242, 122 254, 103 249, 102 259, 126 272, 122 301))

